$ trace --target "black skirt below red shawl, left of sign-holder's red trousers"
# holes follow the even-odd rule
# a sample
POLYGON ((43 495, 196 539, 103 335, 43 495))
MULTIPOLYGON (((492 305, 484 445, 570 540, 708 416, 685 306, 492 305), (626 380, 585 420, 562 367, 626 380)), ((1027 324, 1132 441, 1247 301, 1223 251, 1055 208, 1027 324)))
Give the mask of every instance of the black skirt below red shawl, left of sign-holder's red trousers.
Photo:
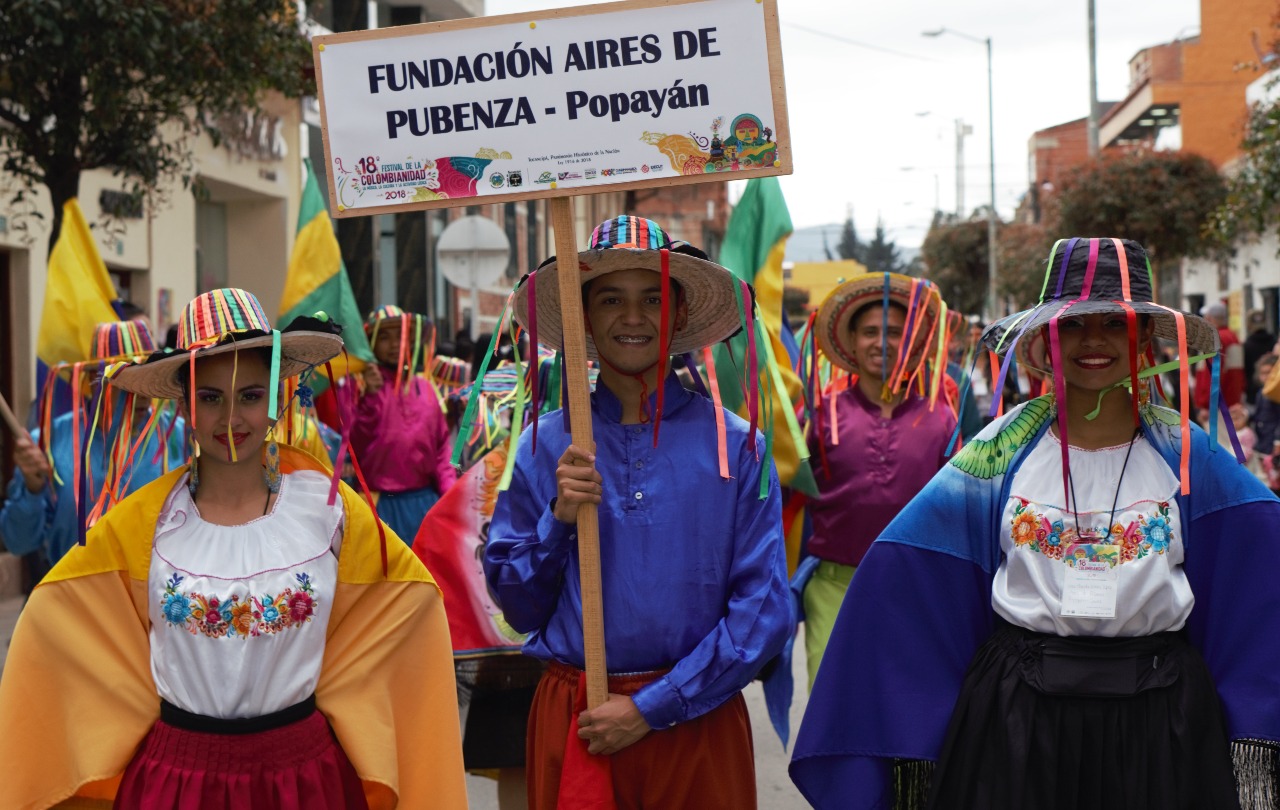
POLYGON ((467 770, 524 768, 525 735, 545 662, 521 654, 454 659, 467 770))

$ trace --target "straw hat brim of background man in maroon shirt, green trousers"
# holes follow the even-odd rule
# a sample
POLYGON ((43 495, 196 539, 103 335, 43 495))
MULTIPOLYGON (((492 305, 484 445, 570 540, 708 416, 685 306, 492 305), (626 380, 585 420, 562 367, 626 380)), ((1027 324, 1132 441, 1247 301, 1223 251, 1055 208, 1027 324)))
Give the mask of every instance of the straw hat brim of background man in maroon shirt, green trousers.
MULTIPOLYGON (((911 307, 911 285, 919 279, 896 273, 888 274, 888 299, 899 303, 902 308, 911 307)), ((884 301, 884 274, 865 273, 855 275, 836 289, 831 290, 818 307, 818 317, 814 319, 818 348, 837 367, 860 374, 858 357, 854 351, 852 333, 849 330, 849 319, 854 312, 870 303, 884 301)), ((908 354, 908 369, 915 369, 924 358, 928 349, 928 337, 933 324, 938 320, 941 298, 936 294, 927 294, 924 317, 920 329, 913 339, 911 352, 908 354)))

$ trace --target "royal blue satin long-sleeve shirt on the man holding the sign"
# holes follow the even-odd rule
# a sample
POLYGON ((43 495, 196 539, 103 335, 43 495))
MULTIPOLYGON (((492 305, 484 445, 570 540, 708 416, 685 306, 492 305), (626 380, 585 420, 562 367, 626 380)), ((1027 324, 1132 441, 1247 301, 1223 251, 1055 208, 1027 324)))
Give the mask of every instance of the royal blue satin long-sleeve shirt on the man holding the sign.
MULTIPOLYGON (((732 479, 719 476, 716 406, 664 381, 660 441, 652 425, 621 424, 605 385, 591 395, 599 507, 604 646, 609 672, 671 672, 632 699, 645 722, 692 719, 742 690, 790 632, 782 502, 746 422, 724 415, 732 479)), ((652 412, 652 409, 650 409, 652 412)), ((511 489, 498 496, 485 576, 525 651, 582 668, 582 599, 576 526, 552 514, 556 467, 570 445, 563 411, 541 417, 516 452, 511 489)))

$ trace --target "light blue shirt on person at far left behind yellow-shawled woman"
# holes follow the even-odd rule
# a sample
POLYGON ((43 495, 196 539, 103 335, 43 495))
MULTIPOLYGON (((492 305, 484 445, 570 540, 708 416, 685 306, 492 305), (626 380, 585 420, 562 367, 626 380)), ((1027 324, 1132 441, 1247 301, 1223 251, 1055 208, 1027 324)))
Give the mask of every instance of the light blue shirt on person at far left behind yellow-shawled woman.
MULTIPOLYGON (((177 425, 169 431, 170 417, 161 416, 157 427, 146 444, 138 449, 133 457, 132 477, 125 471, 128 485, 122 498, 146 484, 159 479, 165 467, 164 458, 159 454, 161 433, 169 433, 166 453, 169 456, 169 470, 186 463, 187 452, 183 445, 183 425, 180 417, 173 417, 177 425)), ((83 422, 82 422, 83 425, 83 422)), ((74 479, 74 427, 72 415, 64 413, 54 420, 51 450, 54 467, 58 471, 56 481, 52 486, 46 486, 38 493, 27 489, 27 481, 20 470, 14 470, 13 480, 9 481, 8 500, 4 509, 0 509, 0 537, 4 539, 5 548, 14 554, 29 554, 37 549, 44 549, 50 566, 58 563, 74 544, 76 531, 76 479, 74 479)), ((92 499, 97 496, 97 490, 102 485, 108 461, 108 438, 101 427, 93 435, 90 465, 95 490, 88 493, 90 503, 86 504, 86 513, 92 509, 92 499)), ((40 441, 40 431, 32 433, 32 439, 40 441)), ((132 449, 132 448, 131 448, 132 449)))

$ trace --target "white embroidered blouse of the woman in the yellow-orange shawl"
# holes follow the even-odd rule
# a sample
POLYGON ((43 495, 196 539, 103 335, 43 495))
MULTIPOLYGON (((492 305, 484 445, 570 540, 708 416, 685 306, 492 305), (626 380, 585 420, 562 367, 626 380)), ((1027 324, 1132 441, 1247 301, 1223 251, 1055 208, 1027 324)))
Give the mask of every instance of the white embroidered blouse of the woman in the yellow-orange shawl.
POLYGON ((221 719, 279 711, 315 692, 338 580, 342 500, 314 471, 283 476, 269 514, 200 516, 178 481, 156 523, 147 577, 160 697, 221 719))

